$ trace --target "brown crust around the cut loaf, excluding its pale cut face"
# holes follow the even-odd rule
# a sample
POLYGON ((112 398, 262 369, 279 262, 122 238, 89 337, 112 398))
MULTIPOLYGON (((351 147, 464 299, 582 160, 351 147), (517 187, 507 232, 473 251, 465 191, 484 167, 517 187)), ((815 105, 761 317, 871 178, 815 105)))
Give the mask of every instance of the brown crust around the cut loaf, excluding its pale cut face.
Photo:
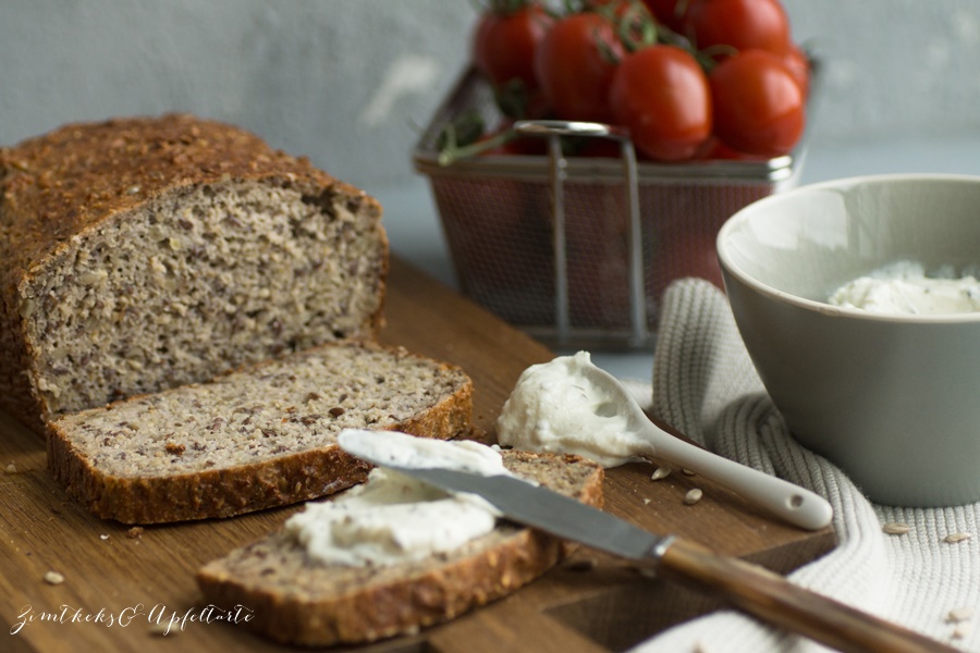
MULTIPOLYGON (((380 220, 370 196, 316 169, 305 157, 270 148, 258 136, 187 114, 75 123, 0 148, 0 402, 42 433, 49 415, 35 387, 35 352, 26 337, 21 291, 46 261, 107 221, 183 188, 220 182, 261 183, 328 201, 380 220)), ((388 241, 380 233, 388 274, 388 241)), ((370 316, 366 337, 383 322, 370 316)))

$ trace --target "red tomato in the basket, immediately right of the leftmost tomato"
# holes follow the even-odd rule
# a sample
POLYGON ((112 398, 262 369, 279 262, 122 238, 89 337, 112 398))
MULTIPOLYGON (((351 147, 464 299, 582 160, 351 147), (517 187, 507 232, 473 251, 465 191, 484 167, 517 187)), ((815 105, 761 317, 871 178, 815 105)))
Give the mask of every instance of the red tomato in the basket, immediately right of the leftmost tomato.
POLYGON ((609 87, 624 54, 613 25, 597 13, 569 14, 555 23, 535 59, 538 82, 555 116, 612 122, 609 87))

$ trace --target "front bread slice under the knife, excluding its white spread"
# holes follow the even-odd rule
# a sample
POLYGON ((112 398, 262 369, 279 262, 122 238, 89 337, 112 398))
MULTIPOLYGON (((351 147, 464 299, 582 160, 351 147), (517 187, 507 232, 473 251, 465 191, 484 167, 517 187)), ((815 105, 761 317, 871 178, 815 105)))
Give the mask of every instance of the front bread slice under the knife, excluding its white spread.
MULTIPOLYGON (((596 506, 602 468, 586 458, 503 451, 514 473, 596 506)), ((534 580, 567 544, 500 521, 491 533, 428 559, 389 567, 343 567, 311 559, 284 530, 213 560, 197 574, 204 599, 246 605, 243 623, 280 642, 362 643, 452 619, 534 580)))

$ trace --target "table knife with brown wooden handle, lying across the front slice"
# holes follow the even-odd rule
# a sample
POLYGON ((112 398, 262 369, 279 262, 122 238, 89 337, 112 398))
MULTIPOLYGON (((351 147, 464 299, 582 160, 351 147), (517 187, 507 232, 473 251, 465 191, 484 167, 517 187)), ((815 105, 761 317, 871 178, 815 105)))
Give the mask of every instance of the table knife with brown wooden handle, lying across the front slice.
POLYGON ((613 555, 654 565, 659 576, 720 595, 772 626, 848 653, 954 653, 924 634, 796 586, 744 560, 660 535, 516 477, 445 468, 384 467, 451 493, 476 494, 504 517, 613 555))

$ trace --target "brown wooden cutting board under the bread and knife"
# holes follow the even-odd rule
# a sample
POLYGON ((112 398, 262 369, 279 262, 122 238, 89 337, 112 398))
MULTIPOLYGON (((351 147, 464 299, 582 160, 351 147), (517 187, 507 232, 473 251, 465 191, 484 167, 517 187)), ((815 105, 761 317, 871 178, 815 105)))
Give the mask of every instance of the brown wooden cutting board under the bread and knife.
MULTIPOLYGON (((552 357, 542 345, 397 259, 392 261, 387 317, 384 342, 469 372, 475 421, 489 439, 519 373, 552 357)), ((610 470, 607 509, 781 572, 834 546, 829 529, 798 530, 702 478, 678 471, 651 481, 652 470, 639 464, 610 470), (705 497, 688 506, 682 500, 690 488, 702 489, 705 497)), ((229 624, 233 606, 206 609, 194 572, 278 527, 296 509, 131 531, 75 505, 47 471, 44 442, 0 414, 0 651, 290 650, 229 624), (63 582, 47 582, 49 571, 63 576, 63 582), (163 634, 168 625, 170 632, 163 634)), ((580 550, 510 597, 418 636, 359 650, 620 651, 715 607, 710 600, 580 550)))

